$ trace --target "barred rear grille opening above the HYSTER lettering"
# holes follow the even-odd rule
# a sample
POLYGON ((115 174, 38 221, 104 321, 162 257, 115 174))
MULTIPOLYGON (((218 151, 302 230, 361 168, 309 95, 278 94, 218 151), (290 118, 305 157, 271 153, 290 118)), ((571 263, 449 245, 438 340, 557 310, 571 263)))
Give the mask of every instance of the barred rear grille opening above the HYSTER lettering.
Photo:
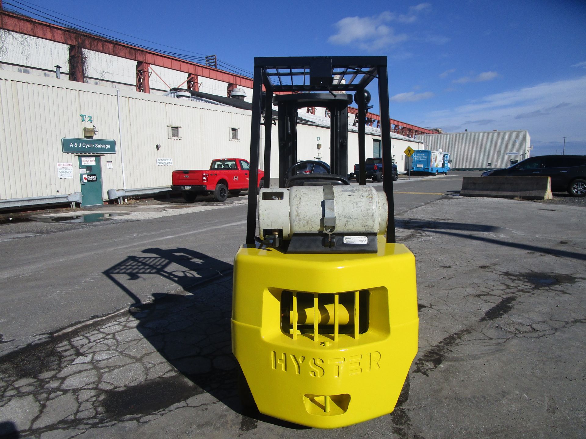
POLYGON ((281 330, 284 334, 319 341, 338 341, 340 334, 358 338, 369 328, 370 291, 304 293, 282 291, 281 330))

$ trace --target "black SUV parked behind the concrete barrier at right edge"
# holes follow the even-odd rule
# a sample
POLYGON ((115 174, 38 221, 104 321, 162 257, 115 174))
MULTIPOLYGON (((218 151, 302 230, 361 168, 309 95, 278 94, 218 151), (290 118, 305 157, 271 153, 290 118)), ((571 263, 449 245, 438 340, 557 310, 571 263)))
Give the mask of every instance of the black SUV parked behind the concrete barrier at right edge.
POLYGON ((586 156, 537 156, 506 169, 482 173, 483 177, 551 177, 551 190, 586 196, 586 156))

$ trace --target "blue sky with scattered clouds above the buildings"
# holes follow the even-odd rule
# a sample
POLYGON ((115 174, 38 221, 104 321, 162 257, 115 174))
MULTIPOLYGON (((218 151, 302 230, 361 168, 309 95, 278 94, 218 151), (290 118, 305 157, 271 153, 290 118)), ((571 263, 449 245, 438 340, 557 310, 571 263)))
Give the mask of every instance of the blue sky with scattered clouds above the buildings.
POLYGON ((527 129, 532 155, 561 153, 567 136, 565 153, 586 154, 585 1, 4 0, 12 5, 245 71, 255 56, 386 55, 394 119, 447 132, 527 129))

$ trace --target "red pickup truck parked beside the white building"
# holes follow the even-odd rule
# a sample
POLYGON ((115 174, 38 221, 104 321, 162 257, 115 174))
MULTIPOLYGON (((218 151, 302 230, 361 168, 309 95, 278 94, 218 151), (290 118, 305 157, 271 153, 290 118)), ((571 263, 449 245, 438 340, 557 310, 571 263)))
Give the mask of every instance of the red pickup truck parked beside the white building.
MULTIPOLYGON (((228 193, 237 195, 248 190, 248 169, 244 159, 215 159, 210 169, 173 171, 172 190, 180 191, 185 201, 195 201, 198 195, 214 194, 217 201, 225 201, 228 193)), ((258 171, 258 189, 263 187, 264 172, 258 171)))

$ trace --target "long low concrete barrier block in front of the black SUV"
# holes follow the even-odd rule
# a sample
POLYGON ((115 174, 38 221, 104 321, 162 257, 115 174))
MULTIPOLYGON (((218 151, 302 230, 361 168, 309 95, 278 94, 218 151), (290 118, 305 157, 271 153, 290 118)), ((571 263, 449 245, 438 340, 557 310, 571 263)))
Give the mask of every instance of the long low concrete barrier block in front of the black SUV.
POLYGON ((462 197, 551 200, 550 177, 464 177, 462 197))

